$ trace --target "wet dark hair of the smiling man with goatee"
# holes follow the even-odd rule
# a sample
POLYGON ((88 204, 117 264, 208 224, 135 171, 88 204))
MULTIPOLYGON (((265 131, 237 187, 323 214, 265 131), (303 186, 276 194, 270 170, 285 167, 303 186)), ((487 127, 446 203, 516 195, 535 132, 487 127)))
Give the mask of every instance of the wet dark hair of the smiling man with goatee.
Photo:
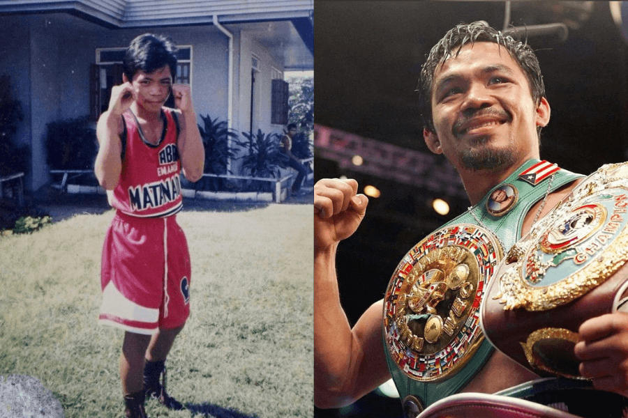
POLYGON ((431 106, 434 73, 444 61, 458 56, 462 47, 472 45, 474 42, 493 42, 504 47, 528 79, 534 103, 539 104, 541 98, 545 97, 545 84, 543 83, 539 60, 528 42, 521 42, 512 36, 504 36, 500 31, 486 26, 484 22, 458 24, 434 45, 421 68, 419 86, 417 86, 419 108, 424 127, 430 132, 436 132, 431 106))

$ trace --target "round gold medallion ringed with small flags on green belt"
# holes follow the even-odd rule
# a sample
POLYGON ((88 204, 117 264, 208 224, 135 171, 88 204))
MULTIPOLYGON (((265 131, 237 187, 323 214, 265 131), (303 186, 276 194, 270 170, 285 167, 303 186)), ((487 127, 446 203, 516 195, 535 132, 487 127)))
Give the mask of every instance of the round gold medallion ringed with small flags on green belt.
POLYGON ((484 339, 481 297, 501 258, 495 235, 474 224, 444 227, 405 255, 384 297, 384 339, 406 376, 448 378, 472 357, 484 339))

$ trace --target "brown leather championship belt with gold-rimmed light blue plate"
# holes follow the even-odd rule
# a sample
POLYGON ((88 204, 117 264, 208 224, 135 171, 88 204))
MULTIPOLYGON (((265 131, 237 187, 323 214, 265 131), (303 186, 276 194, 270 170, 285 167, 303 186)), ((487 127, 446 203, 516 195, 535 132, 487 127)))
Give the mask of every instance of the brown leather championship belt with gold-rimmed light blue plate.
POLYGON ((583 180, 497 266, 481 306, 487 338, 540 376, 583 379, 578 327, 625 309, 628 164, 583 180))

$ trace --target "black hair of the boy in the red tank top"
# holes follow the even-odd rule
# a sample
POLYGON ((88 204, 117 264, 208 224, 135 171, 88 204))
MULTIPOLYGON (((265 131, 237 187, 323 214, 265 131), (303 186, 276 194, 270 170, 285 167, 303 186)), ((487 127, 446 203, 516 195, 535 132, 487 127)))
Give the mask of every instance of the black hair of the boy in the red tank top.
POLYGON ((151 73, 167 65, 174 80, 177 76, 176 52, 177 47, 170 38, 144 33, 130 42, 122 59, 122 71, 131 81, 138 70, 151 73))

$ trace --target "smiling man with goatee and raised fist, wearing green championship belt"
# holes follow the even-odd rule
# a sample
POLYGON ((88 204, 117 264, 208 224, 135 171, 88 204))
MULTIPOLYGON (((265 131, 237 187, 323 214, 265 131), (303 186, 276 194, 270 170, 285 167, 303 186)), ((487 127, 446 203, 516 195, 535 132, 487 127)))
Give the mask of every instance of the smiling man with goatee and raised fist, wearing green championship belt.
MULTIPOLYGON (((493 394, 539 378, 494 350, 477 320, 481 288, 491 279, 481 272, 492 271, 498 253, 507 253, 583 180, 539 160, 539 136, 551 111, 537 58, 484 24, 458 25, 431 50, 419 93, 424 140, 456 167, 472 207, 409 251, 384 300, 350 327, 334 258, 338 243, 366 215, 368 199, 357 194, 354 180, 317 182, 315 403, 321 408, 351 403, 391 377, 408 416, 457 392, 493 394), (491 194, 506 186, 514 203, 491 212, 491 194), (464 270, 466 254, 482 245, 484 267, 464 270), (451 280, 454 272, 464 284, 451 280)), ((591 318, 578 331, 581 377, 628 405, 628 315, 591 318)), ((581 412, 574 400, 557 402, 581 412)), ((608 408, 608 416, 622 416, 617 403, 608 408)))

